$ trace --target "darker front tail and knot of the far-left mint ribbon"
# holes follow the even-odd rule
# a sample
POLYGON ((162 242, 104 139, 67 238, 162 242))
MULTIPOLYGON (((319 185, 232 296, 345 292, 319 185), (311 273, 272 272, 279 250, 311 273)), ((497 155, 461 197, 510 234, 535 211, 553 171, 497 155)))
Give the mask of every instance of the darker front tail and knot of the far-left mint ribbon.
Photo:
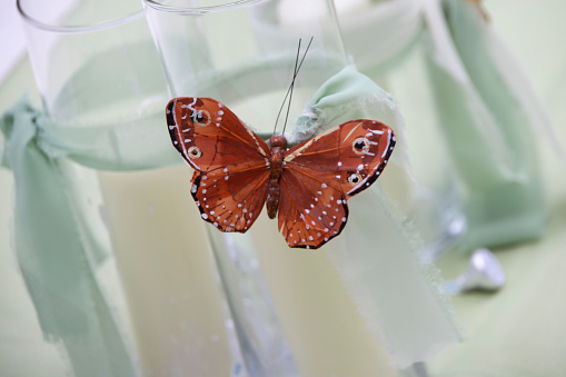
POLYGON ((16 179, 18 260, 43 331, 80 334, 90 326, 92 284, 57 160, 39 147, 40 112, 20 101, 2 117, 2 163, 16 179), (61 262, 62 261, 62 262, 61 262), (57 314, 57 315, 56 315, 57 314))

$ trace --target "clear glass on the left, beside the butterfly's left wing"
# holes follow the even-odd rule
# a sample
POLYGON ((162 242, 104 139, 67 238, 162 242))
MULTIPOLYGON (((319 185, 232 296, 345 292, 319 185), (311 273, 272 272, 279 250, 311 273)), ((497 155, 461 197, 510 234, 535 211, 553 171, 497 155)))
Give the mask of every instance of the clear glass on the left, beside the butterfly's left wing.
MULTIPOLYGON (((140 140, 153 132, 137 129, 159 136, 170 95, 139 1, 80 0, 61 9, 33 0, 18 4, 52 120, 70 130, 96 133, 127 126, 140 140)), ((123 171, 123 166, 136 168, 138 157, 156 153, 140 147, 136 156, 136 149, 120 143, 127 135, 117 137, 105 140, 122 152, 121 161, 108 161, 115 171, 58 161, 92 284, 100 288, 92 294, 98 327, 82 339, 63 337, 64 358, 77 376, 183 375, 189 369, 218 376, 238 365, 241 369, 217 269, 200 237, 202 225, 186 216, 195 209, 182 197, 188 192, 185 170, 123 171)), ((41 316, 38 302, 36 309, 41 316)))

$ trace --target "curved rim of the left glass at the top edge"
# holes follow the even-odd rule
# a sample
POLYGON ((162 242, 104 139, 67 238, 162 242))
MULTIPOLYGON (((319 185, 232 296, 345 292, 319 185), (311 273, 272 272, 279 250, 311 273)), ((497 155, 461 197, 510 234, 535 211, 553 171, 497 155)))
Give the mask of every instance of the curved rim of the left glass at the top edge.
POLYGON ((23 9, 21 1, 22 0, 17 0, 16 7, 18 8, 18 12, 20 13, 21 18, 26 22, 34 26, 38 29, 42 29, 46 31, 61 32, 61 33, 78 33, 78 32, 99 31, 99 30, 117 27, 117 26, 120 26, 123 23, 128 23, 130 21, 133 21, 133 20, 145 16, 143 9, 140 9, 140 10, 137 10, 137 11, 133 11, 133 12, 130 12, 130 13, 127 13, 127 14, 123 14, 120 17, 110 18, 108 20, 105 20, 101 22, 95 22, 91 24, 76 24, 76 26, 75 24, 73 26, 53 24, 53 23, 48 23, 48 22, 41 21, 41 20, 37 19, 36 17, 30 16, 29 12, 26 12, 26 10, 23 9))

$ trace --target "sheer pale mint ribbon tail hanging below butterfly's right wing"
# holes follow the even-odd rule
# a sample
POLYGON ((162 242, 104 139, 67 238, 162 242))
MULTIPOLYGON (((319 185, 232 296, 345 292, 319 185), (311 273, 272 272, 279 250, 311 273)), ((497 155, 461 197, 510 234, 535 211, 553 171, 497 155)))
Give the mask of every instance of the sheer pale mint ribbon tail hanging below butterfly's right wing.
POLYGON ((348 200, 345 237, 325 250, 390 364, 430 361, 461 340, 450 299, 436 267, 418 258, 418 236, 391 210, 379 182, 368 191, 364 200, 348 200))

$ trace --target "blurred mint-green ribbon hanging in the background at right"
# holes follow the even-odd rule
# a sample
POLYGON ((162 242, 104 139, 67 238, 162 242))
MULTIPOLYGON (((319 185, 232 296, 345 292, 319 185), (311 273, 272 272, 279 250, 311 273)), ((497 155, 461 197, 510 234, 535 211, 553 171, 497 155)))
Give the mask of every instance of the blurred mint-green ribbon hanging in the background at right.
POLYGON ((465 195, 459 247, 539 237, 546 205, 535 140, 552 129, 545 111, 473 4, 426 1, 425 17, 439 125, 465 195))

